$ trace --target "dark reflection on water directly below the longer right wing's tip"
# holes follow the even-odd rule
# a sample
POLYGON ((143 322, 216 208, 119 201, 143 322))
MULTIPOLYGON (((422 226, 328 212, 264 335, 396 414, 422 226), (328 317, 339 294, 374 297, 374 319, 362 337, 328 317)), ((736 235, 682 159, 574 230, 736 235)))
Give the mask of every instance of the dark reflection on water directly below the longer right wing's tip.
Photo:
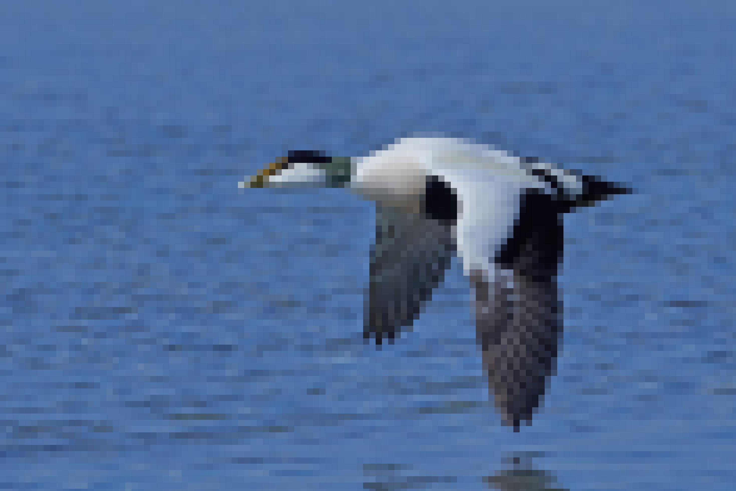
POLYGON ((492 490, 503 491, 567 491, 547 470, 536 469, 531 464, 535 453, 517 452, 506 456, 506 466, 493 476, 483 478, 492 490))

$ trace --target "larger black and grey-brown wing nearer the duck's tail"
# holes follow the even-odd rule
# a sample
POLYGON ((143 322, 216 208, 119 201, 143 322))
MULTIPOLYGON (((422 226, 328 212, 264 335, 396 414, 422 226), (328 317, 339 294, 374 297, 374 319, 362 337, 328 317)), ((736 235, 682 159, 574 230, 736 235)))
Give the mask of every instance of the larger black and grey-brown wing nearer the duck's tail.
POLYGON ((480 272, 471 278, 489 390, 514 431, 539 406, 562 333, 556 282, 562 215, 543 195, 528 194, 521 205, 512 237, 495 258, 492 283, 480 272))

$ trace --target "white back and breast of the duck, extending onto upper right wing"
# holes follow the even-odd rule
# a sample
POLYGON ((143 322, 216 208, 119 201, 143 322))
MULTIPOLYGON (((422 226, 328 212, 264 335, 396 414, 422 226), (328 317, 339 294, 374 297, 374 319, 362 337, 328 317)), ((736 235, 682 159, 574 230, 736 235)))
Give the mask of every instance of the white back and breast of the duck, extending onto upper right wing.
POLYGON ((457 138, 402 138, 356 160, 355 171, 355 191, 406 211, 418 211, 428 175, 449 183, 460 203, 454 236, 464 272, 481 270, 489 281, 493 258, 518 216, 522 191, 545 187, 519 158, 457 138))

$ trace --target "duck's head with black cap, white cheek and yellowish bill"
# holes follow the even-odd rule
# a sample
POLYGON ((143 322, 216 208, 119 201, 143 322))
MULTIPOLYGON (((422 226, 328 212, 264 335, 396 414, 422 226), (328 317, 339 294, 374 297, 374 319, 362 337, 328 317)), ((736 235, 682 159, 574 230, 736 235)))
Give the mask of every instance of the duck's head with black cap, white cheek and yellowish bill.
POLYGON ((269 163, 239 188, 344 188, 350 185, 353 160, 322 152, 297 150, 269 163))

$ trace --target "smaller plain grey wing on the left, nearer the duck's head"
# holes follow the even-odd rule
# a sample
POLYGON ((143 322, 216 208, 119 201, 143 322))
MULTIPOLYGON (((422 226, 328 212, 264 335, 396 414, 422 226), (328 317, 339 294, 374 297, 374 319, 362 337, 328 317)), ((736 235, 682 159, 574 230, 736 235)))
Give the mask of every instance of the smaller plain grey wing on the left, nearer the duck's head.
POLYGON ((379 205, 364 337, 392 340, 411 325, 445 276, 455 245, 446 223, 379 205))

